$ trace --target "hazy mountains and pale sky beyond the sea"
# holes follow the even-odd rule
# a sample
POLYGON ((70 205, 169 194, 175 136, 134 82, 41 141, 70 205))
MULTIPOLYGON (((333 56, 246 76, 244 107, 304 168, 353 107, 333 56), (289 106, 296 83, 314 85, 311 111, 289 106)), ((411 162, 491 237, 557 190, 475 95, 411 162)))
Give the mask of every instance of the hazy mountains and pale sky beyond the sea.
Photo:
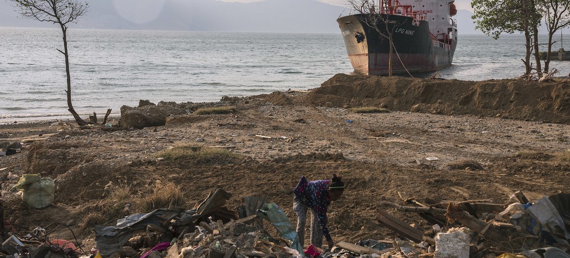
MULTIPOLYGON (((54 27, 18 18, 17 9, 0 0, 2 27, 54 27)), ((216 0, 89 0, 89 12, 72 28, 119 30, 247 31, 339 33, 336 19, 345 7, 314 0, 266 0, 238 3, 216 0)), ((475 30, 471 13, 459 10, 459 34, 475 30)))

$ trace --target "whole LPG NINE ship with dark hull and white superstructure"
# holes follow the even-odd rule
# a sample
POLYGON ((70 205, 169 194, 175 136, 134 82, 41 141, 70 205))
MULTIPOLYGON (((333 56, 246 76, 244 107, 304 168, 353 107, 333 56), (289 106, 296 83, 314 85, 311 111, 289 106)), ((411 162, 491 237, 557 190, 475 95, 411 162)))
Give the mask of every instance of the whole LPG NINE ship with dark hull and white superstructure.
POLYGON ((393 38, 393 75, 433 72, 451 65, 457 46, 453 1, 370 1, 374 5, 369 10, 353 10, 356 14, 337 19, 355 72, 388 75, 390 43, 382 36, 389 35, 387 31, 393 38))

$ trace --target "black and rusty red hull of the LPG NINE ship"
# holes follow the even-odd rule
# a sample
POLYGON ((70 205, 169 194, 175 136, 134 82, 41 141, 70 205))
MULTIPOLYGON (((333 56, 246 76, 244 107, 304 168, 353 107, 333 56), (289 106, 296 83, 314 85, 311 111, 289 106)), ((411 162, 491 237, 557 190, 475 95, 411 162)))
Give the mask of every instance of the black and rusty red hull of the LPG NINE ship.
MULTIPOLYGON (((337 19, 351 64, 356 72, 363 75, 388 75, 389 40, 362 22, 362 16, 348 15, 337 19)), ((389 26, 397 24, 393 29, 389 27, 393 31, 394 75, 437 71, 451 65, 455 40, 444 43, 434 39, 427 21, 417 22, 401 15, 390 15, 389 21, 392 21, 389 26)), ((382 34, 388 35, 384 23, 377 27, 382 34)))

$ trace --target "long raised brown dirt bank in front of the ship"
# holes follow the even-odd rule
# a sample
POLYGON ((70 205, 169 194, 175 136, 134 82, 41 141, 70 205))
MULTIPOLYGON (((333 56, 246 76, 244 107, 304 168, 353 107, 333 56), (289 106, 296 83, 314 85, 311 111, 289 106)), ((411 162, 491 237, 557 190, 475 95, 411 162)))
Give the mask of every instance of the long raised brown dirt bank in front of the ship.
POLYGON ((313 105, 379 106, 437 114, 475 114, 570 122, 570 84, 430 80, 337 74, 308 96, 313 105))

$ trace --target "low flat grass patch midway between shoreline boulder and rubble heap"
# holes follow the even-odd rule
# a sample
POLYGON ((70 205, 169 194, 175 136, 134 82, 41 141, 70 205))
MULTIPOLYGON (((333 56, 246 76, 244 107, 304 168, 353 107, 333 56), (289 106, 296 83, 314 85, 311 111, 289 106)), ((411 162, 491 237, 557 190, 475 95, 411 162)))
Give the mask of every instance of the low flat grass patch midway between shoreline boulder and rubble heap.
POLYGON ((196 145, 178 145, 158 152, 156 157, 165 159, 212 159, 237 158, 238 155, 226 149, 207 148, 196 145))

